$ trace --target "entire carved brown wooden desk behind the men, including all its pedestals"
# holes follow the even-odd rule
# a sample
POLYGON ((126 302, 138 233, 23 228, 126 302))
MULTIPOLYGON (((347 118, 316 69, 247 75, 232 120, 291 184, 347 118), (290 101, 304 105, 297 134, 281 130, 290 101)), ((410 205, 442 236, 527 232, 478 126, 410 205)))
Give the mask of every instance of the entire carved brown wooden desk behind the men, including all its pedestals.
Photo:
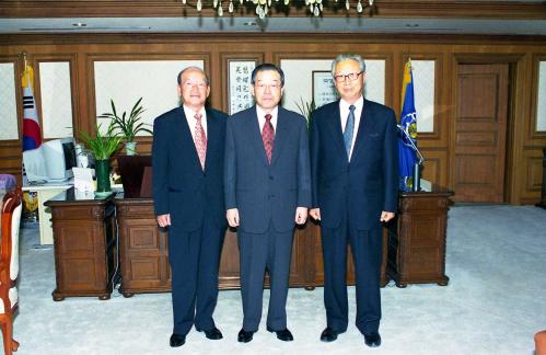
MULTIPOLYGON (((155 222, 151 198, 74 199, 73 190, 46 203, 53 209, 57 289, 54 299, 93 296, 107 299, 115 265, 114 206, 117 209, 118 253, 125 297, 171 290, 167 232, 155 222)), ((397 219, 384 229, 381 286, 390 277, 405 287, 411 283, 448 284, 445 228, 450 191, 400 194, 397 219)), ((320 227, 307 221, 294 229, 289 285, 313 289, 324 285, 320 227)), ((235 232, 225 233, 219 288, 240 287, 235 232)), ((355 284, 352 257, 347 283, 355 284)), ((266 287, 268 279, 266 277, 266 287)))

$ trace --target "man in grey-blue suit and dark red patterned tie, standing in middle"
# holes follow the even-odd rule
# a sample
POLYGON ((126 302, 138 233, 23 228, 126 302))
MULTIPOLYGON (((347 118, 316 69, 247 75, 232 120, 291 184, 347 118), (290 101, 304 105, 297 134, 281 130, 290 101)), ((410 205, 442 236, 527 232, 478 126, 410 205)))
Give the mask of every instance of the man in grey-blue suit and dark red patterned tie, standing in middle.
POLYGON ((303 116, 280 102, 284 75, 271 64, 252 73, 256 105, 228 119, 225 134, 225 208, 239 227, 243 328, 247 343, 262 318, 265 270, 271 291, 267 330, 292 341, 287 328, 287 295, 295 224, 304 224, 311 205, 307 128, 303 116))

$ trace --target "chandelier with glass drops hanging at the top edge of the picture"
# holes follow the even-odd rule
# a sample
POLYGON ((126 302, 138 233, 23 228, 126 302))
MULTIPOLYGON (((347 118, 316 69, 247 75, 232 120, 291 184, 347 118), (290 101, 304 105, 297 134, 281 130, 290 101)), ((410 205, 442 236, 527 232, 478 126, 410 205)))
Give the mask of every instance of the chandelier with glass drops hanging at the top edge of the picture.
MULTIPOLYGON (((282 2, 284 7, 290 7, 290 1, 291 0, 239 0, 239 4, 236 5, 242 7, 245 3, 246 4, 253 3, 255 7, 256 15, 263 20, 265 16, 267 16, 269 10, 271 9, 272 2, 275 2, 275 5, 277 5, 277 3, 279 2, 282 2)), ((305 1, 305 7, 314 16, 320 16, 323 13, 324 7, 329 7, 329 8, 338 7, 338 0, 292 0, 292 1, 305 1)), ((339 1, 341 2, 342 0, 339 1)), ((374 0, 345 0, 345 9, 347 12, 349 12, 351 7, 355 7, 357 13, 361 14, 364 11, 364 8, 373 7, 373 1, 374 0), (357 2, 356 5, 355 2, 357 2)), ((182 0, 182 3, 184 5, 186 5, 187 2, 188 0, 182 0)), ((229 11, 229 13, 233 14, 235 10, 235 3, 237 2, 237 0, 224 0, 224 3, 226 2, 229 2, 229 4, 225 9, 229 11)), ((197 0, 195 7, 198 12, 201 12, 202 10, 202 3, 204 3, 202 0, 197 0)), ((212 0, 212 8, 217 11, 219 16, 223 16, 224 5, 222 4, 222 0, 212 0)))

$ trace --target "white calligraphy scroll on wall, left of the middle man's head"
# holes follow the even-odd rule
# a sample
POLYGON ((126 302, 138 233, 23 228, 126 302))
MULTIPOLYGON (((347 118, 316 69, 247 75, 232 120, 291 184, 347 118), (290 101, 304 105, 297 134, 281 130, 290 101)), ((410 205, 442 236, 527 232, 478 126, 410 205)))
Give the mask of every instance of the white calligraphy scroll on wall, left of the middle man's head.
POLYGON ((230 115, 246 110, 254 104, 251 93, 251 76, 256 68, 253 59, 228 60, 228 104, 230 115))

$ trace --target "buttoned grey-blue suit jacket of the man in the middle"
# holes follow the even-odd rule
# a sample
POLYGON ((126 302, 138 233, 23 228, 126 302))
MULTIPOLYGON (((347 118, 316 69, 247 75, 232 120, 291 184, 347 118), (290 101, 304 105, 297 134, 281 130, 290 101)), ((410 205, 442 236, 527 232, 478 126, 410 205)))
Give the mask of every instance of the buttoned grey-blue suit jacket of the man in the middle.
POLYGON ((256 106, 228 119, 225 208, 237 208, 240 228, 264 233, 294 227, 297 207, 311 206, 307 127, 303 116, 279 106, 271 164, 268 163, 256 106))

